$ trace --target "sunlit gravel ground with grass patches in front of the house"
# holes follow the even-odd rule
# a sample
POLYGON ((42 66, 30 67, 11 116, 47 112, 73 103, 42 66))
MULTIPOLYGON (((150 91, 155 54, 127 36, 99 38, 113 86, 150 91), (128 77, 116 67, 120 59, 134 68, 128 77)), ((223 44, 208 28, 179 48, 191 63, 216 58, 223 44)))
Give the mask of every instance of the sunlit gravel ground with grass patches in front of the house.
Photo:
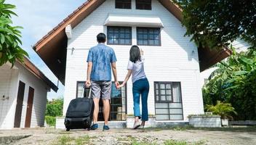
POLYGON ((69 132, 50 128, 0 130, 0 144, 164 144, 167 140, 186 141, 188 144, 198 145, 253 145, 256 144, 256 128, 148 128, 69 132), (11 142, 17 138, 21 139, 11 142))

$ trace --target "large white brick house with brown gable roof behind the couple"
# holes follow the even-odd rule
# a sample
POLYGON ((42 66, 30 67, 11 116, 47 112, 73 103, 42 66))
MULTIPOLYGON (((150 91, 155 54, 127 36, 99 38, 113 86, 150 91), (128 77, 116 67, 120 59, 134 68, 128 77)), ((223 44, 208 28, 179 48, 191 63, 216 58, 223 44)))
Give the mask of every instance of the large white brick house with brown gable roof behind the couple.
MULTIPOLYGON (((182 19, 181 9, 168 0, 90 0, 76 9, 33 47, 65 84, 63 115, 71 99, 83 97, 87 54, 101 32, 116 52, 120 81, 127 73, 130 47, 145 51, 153 123, 188 123, 188 115, 203 114, 199 73, 231 51, 197 48, 183 36, 182 19)), ((132 106, 131 80, 120 90, 113 86, 110 120, 122 123, 133 114, 132 106)))

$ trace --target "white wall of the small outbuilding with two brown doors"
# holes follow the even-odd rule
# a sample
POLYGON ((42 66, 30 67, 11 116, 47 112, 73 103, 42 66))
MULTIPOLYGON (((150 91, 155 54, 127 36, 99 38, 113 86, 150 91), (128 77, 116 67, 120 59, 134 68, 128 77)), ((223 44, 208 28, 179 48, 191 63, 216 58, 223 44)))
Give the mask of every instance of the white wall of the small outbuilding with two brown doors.
POLYGON ((34 88, 33 109, 31 116, 31 128, 44 125, 44 112, 47 103, 47 86, 42 80, 36 78, 31 72, 20 64, 15 64, 10 69, 8 65, 0 67, 0 129, 11 129, 15 121, 15 109, 17 104, 17 90, 19 81, 25 83, 23 110, 20 128, 25 127, 25 115, 28 103, 29 86, 34 88), (11 81, 9 78, 12 75, 11 81), (9 83, 10 82, 10 83, 9 83), (9 94, 7 93, 9 91, 9 94), (1 100, 3 95, 9 96, 8 100, 1 100))

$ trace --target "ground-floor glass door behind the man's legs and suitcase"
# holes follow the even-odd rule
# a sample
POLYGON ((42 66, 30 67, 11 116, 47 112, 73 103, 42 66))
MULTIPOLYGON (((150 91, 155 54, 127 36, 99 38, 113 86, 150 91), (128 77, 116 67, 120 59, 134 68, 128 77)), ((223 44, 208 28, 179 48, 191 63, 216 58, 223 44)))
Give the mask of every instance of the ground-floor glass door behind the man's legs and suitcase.
MULTIPOLYGON (((89 88, 84 90, 83 94, 83 87, 84 81, 78 81, 76 85, 76 98, 81 97, 88 97, 89 96, 89 88)), ((120 82, 121 84, 122 82, 120 82)), ((112 83, 111 88, 111 113, 110 113, 110 120, 125 120, 127 114, 127 86, 116 89, 115 83, 112 83)), ((103 121, 103 102, 100 101, 100 110, 98 115, 98 120, 103 121)))

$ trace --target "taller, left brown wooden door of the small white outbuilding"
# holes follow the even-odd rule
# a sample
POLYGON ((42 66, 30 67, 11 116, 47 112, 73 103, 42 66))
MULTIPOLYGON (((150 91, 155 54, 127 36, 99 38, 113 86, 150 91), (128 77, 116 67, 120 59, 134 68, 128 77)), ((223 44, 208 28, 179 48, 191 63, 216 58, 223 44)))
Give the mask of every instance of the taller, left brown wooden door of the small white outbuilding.
POLYGON ((20 128, 21 113, 23 111, 23 99, 24 99, 25 83, 20 81, 17 91, 17 104, 15 111, 15 128, 20 128))

